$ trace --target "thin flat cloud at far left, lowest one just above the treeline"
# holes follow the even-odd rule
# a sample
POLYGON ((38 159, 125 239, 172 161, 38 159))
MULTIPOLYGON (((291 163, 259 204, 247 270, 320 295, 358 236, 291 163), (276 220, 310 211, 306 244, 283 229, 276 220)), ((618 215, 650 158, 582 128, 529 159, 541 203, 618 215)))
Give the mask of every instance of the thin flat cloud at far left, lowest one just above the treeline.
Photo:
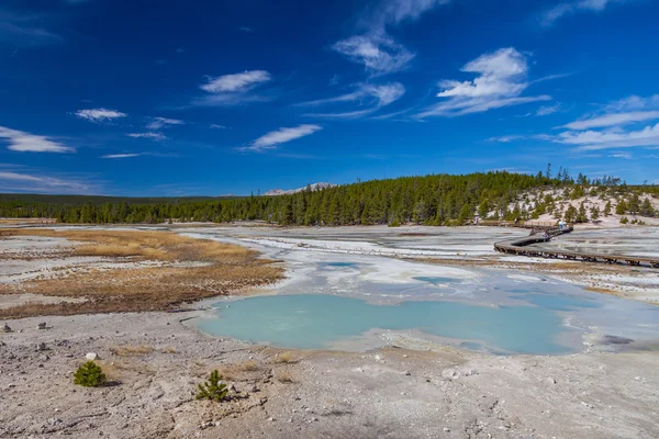
POLYGON ((2 188, 21 192, 42 193, 87 193, 91 187, 74 178, 56 178, 38 175, 0 171, 2 188))

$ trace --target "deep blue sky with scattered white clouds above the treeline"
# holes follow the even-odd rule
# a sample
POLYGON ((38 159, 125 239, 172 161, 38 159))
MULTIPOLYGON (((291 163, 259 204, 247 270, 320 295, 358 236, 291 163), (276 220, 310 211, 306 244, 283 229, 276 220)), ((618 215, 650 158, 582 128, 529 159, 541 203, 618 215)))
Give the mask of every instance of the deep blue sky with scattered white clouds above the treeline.
POLYGON ((0 192, 659 183, 659 1, 3 0, 0 192))

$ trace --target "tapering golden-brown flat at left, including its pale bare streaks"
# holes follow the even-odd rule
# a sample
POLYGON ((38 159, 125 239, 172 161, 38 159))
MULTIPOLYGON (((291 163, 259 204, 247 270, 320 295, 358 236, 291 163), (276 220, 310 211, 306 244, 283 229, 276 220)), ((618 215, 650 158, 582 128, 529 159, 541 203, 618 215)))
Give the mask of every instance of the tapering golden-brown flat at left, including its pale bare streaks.
POLYGON ((239 246, 157 230, 0 228, 0 294, 13 296, 0 318, 169 309, 283 272, 239 246))

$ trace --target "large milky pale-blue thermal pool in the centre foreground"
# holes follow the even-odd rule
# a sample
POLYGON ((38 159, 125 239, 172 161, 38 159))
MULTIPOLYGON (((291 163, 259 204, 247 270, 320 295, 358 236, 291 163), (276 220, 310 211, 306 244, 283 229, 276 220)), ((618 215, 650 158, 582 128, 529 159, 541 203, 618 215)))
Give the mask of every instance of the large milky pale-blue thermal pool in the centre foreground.
POLYGON ((536 306, 478 306, 416 301, 375 305, 322 294, 257 296, 215 305, 216 317, 194 322, 202 331, 283 348, 331 348, 370 329, 415 329, 456 339, 470 349, 511 353, 565 353, 556 340, 561 316, 536 306))

